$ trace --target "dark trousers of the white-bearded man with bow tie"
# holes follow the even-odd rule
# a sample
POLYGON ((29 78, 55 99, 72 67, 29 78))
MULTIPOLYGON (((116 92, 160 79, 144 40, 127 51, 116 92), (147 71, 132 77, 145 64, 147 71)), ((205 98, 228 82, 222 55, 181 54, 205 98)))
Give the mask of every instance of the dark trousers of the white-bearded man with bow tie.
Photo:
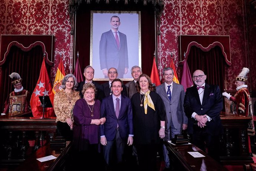
POLYGON ((220 161, 219 135, 210 135, 206 133, 206 127, 200 128, 198 125, 194 125, 194 133, 191 138, 194 145, 207 152, 214 160, 220 161))

